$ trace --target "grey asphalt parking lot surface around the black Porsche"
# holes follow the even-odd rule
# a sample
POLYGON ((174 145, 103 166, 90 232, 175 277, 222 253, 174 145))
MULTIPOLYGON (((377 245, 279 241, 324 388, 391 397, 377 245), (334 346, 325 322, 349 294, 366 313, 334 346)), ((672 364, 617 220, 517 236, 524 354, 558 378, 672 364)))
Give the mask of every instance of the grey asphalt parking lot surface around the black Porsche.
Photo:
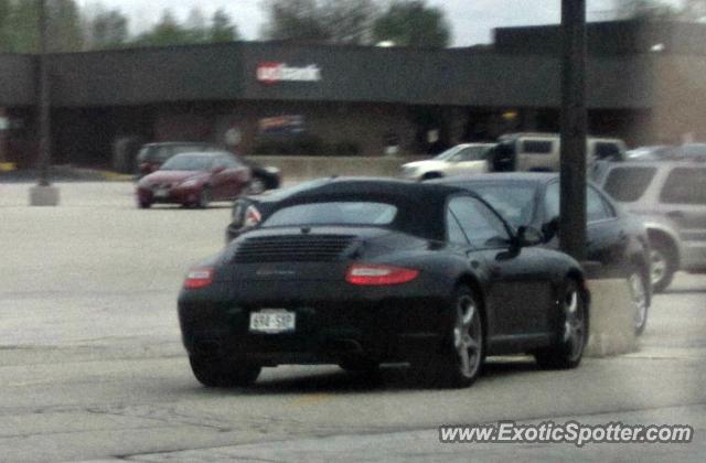
POLYGON ((132 185, 65 183, 29 207, 0 184, 0 460, 692 460, 706 453, 706 276, 655 298, 640 351, 569 372, 493 360, 470 389, 336 367, 266 369, 243 390, 191 376, 175 299, 217 252, 228 205, 138 209, 132 185), (543 419, 687 423, 689 444, 440 444, 437 427, 543 419), (474 453, 471 453, 474 452, 474 453))

